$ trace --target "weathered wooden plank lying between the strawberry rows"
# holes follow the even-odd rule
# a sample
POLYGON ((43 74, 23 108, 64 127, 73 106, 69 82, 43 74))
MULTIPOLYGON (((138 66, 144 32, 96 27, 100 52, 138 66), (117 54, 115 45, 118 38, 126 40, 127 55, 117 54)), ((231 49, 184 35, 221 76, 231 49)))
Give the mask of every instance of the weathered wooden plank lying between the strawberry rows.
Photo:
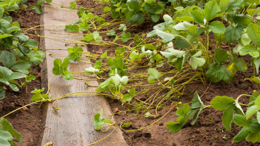
MULTIPOLYGON (((53 0, 53 2, 68 6, 70 1, 67 0, 53 0)), ((45 4, 50 6, 56 6, 55 4, 45 4)), ((64 25, 72 23, 73 20, 77 20, 79 17, 76 11, 69 11, 58 9, 54 7, 44 7, 44 14, 41 16, 40 23, 45 25, 42 28, 55 28, 53 25, 64 25), (48 25, 46 25, 48 24, 48 25)), ((58 29, 64 29, 60 27, 58 29)), ((79 41, 83 35, 67 35, 57 34, 64 33, 64 30, 42 30, 41 35, 49 36, 51 38, 59 38, 64 40, 79 41)), ((50 38, 42 38, 41 49, 67 49, 73 46, 65 46, 65 43, 71 43, 69 41, 56 40, 50 38)), ((84 52, 87 52, 86 47, 82 47, 84 52)), ((42 80, 43 87, 47 88, 48 81, 53 77, 52 68, 53 61, 57 56, 49 56, 50 54, 57 54, 67 56, 67 51, 63 50, 47 50, 46 59, 41 64, 42 67, 42 80)), ((85 59, 85 61, 90 61, 85 59)), ((91 64, 83 62, 70 62, 68 70, 71 72, 83 71, 91 64)), ((86 74, 73 74, 74 77, 90 79, 92 77, 86 74)), ((91 80, 90 85, 98 85, 97 81, 91 80)), ((57 98, 59 95, 65 95, 72 92, 79 91, 95 91, 96 88, 87 87, 84 81, 75 80, 67 81, 62 76, 55 76, 50 82, 50 92, 53 98, 57 98)), ((86 145, 98 141, 108 135, 113 128, 107 132, 96 131, 92 125, 94 122, 94 115, 99 112, 100 108, 103 108, 103 115, 107 116, 111 114, 110 107, 105 98, 100 95, 77 95, 65 97, 58 100, 55 105, 60 109, 58 111, 52 111, 52 103, 45 104, 43 107, 43 126, 42 126, 42 140, 41 145, 47 142, 53 142, 54 145, 86 145)), ((122 131, 119 127, 116 127, 113 134, 109 135, 104 140, 93 145, 127 145, 122 131)))

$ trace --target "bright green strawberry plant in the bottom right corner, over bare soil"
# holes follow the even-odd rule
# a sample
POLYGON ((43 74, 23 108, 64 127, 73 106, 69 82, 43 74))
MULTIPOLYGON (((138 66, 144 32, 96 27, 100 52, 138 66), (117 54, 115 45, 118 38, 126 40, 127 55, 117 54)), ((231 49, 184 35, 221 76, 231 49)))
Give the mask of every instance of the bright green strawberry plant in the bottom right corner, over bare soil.
POLYGON ((207 107, 212 106, 218 111, 224 111, 222 115, 222 123, 224 127, 231 131, 231 123, 234 123, 237 126, 243 127, 240 132, 233 138, 234 142, 239 142, 243 139, 252 142, 259 142, 259 132, 260 132, 260 95, 258 92, 254 92, 252 95, 242 94, 233 99, 233 97, 227 96, 216 96, 210 102, 210 105, 204 105, 201 101, 197 92, 194 93, 192 99, 192 106, 189 104, 183 104, 181 108, 178 108, 176 111, 177 122, 169 122, 166 127, 170 132, 176 132, 183 127, 188 120, 193 116, 191 125, 194 125, 200 112, 207 107), (239 103, 238 100, 242 96, 250 97, 250 102, 248 104, 239 103), (246 113, 244 113, 241 105, 248 106, 246 113), (235 112, 235 114, 234 114, 235 112))

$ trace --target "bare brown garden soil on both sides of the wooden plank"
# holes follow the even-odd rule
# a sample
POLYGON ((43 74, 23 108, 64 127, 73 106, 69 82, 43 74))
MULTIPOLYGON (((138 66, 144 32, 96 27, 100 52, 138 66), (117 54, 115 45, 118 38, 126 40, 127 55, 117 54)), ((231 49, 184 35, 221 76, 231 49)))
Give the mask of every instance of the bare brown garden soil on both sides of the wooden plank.
MULTIPOLYGON (((30 6, 31 3, 35 4, 36 1, 30 1, 30 4, 28 5, 30 6)), ((92 8, 93 6, 99 6, 99 8, 91 10, 94 16, 104 15, 105 13, 102 11, 102 8, 108 6, 98 1, 79 1, 79 5, 87 9, 92 8)), ((17 13, 11 14, 13 20, 18 21, 20 23, 21 28, 30 28, 39 25, 38 23, 35 23, 39 21, 39 18, 36 18, 35 20, 35 15, 36 14, 34 11, 27 10, 27 9, 22 10, 22 12, 19 14, 17 13), (26 19, 23 19, 24 17, 26 17, 26 19)), ((106 22, 111 22, 114 20, 109 15, 105 16, 104 19, 106 22)), ((218 20, 218 18, 216 18, 216 20, 218 20)), ((120 21, 121 20, 118 20, 118 22, 120 21)), ((126 26, 131 27, 127 30, 127 32, 130 32, 131 38, 134 38, 135 34, 138 34, 139 36, 141 36, 142 34, 148 34, 153 30, 153 26, 159 23, 161 23, 161 20, 157 23, 152 23, 150 22, 150 20, 148 20, 147 17, 145 17, 144 23, 140 25, 133 26, 133 24, 131 23, 126 23, 126 26)), ((228 26, 228 24, 225 25, 228 26)), ((100 35, 102 35, 103 37, 103 41, 113 42, 115 37, 107 36, 105 32, 107 30, 112 30, 114 27, 115 26, 108 26, 99 30, 100 35)), ((92 33, 94 32, 94 30, 90 29, 84 32, 92 33)), ((34 33, 34 30, 30 30, 30 32, 28 33, 34 33)), ((116 33, 119 34, 121 33, 121 31, 117 29, 116 33)), ((37 39, 36 41, 39 43, 39 38, 34 38, 32 36, 32 39, 37 39)), ((146 38, 144 37, 144 39, 146 38)), ((210 40, 213 41, 214 39, 215 39, 214 35, 213 33, 211 33, 210 40)), ((130 39, 128 42, 120 42, 119 40, 116 43, 124 46, 133 47, 133 42, 134 41, 130 39)), ((148 42, 153 42, 153 40, 150 39, 148 42)), ((213 46, 216 47, 216 44, 213 44, 213 46)), ((109 45, 103 47, 102 45, 93 45, 93 44, 88 44, 87 47, 91 54, 95 54, 99 57, 104 52, 107 52, 107 56, 115 56, 115 52, 119 48, 117 45, 109 45)), ((229 46, 227 43, 222 43, 220 47, 222 49, 229 50, 229 46)), ((213 52, 212 50, 213 49, 211 48, 211 52, 213 52)), ((92 63, 95 63, 97 58, 93 57, 91 59, 92 63)), ((242 140, 238 143, 235 143, 233 141, 233 137, 239 133, 241 127, 236 126, 234 122, 232 122, 231 132, 227 131, 223 126, 221 120, 223 112, 216 111, 212 107, 208 107, 200 113, 200 116, 198 117, 195 125, 190 125, 189 123, 191 122, 191 120, 189 120, 188 124, 185 124, 178 132, 175 133, 169 132, 169 130, 166 128, 166 124, 168 122, 176 121, 176 119, 178 118, 178 116, 176 115, 177 109, 173 108, 175 106, 174 103, 191 102, 196 91, 198 95, 201 97, 203 103, 205 105, 210 105, 210 102, 215 96, 225 95, 236 99, 241 94, 250 95, 255 90, 258 90, 258 86, 256 84, 253 84, 248 80, 244 80, 246 78, 251 78, 254 74, 253 71, 254 69, 253 66, 251 65, 251 56, 239 55, 238 58, 244 59, 248 68, 246 71, 238 70, 234 75, 234 80, 231 81, 231 83, 228 84, 225 83, 224 81, 213 83, 207 80, 206 81, 207 85, 205 86, 200 81, 199 78, 196 78, 191 82, 189 82, 189 84, 184 84, 184 87, 181 88, 181 90, 179 91, 179 93, 181 94, 173 96, 170 99, 161 102, 160 104, 158 104, 159 107, 157 106, 157 104, 152 103, 151 104, 152 108, 150 109, 144 110, 145 108, 139 108, 145 104, 144 102, 151 103, 153 101, 152 97, 154 97, 160 90, 160 88, 157 88, 158 87, 157 84, 150 85, 148 87, 145 86, 150 84, 146 80, 148 77, 146 75, 131 78, 132 80, 129 80, 128 84, 126 85, 127 89, 131 89, 132 87, 135 87, 135 93, 142 93, 136 96, 135 97, 136 99, 133 99, 129 102, 131 104, 131 107, 133 108, 130 108, 127 104, 122 104, 122 102, 119 101, 118 99, 110 98, 112 94, 108 93, 106 97, 110 107, 112 108, 112 111, 115 113, 116 123, 118 123, 121 126, 123 123, 128 124, 128 125, 125 124, 126 126, 122 127, 124 139, 126 140, 127 144, 129 145, 259 145, 259 143, 257 142, 252 143, 246 140, 242 140), (146 89, 152 89, 152 90, 149 92, 142 92, 146 89), (147 116, 146 115, 147 112, 149 112, 151 115, 147 116), (146 126, 147 128, 138 130, 146 126)), ((127 75, 129 75, 129 77, 132 74, 143 75, 143 72, 147 72, 147 69, 151 68, 151 66, 145 63, 145 59, 146 59, 145 57, 141 59, 142 61, 140 61, 139 64, 135 66, 136 68, 131 67, 131 69, 128 70, 129 72, 131 72, 131 74, 127 72, 127 75), (145 64, 147 66, 143 67, 145 64)), ((102 60, 102 63, 105 64, 106 61, 102 60)), ((228 63, 229 61, 225 62, 225 65, 227 65, 228 63)), ((160 68, 158 67, 157 69, 159 72, 167 73, 167 71, 172 69, 172 66, 165 64, 160 68)), ((108 71, 109 70, 104 70, 104 72, 101 73, 100 75, 102 77, 105 77, 108 71)), ((4 100, 0 100, 0 105, 2 105, 0 106, 0 112, 3 113, 0 116, 3 116, 13 111, 15 108, 19 106, 31 102, 30 97, 32 94, 30 94, 30 91, 34 90, 34 88, 37 89, 41 88, 41 75, 38 75, 39 72, 40 72, 39 66, 33 66, 31 70, 31 74, 34 76, 38 76, 38 78, 35 81, 30 82, 26 86, 26 88, 20 90, 19 92, 13 92, 12 90, 7 89, 6 98, 4 100)), ((191 72, 192 72, 191 70, 190 72, 188 71, 188 73, 191 72)), ((175 75, 174 72, 168 74, 168 76, 174 76, 174 75, 175 75)), ((193 75, 193 73, 191 73, 191 75, 193 75)), ((189 79, 190 78, 187 77, 187 79, 180 80, 177 83, 181 84, 183 82, 187 82, 189 79)), ((100 83, 103 82, 103 80, 98 80, 98 81, 100 83)), ((168 92, 167 89, 163 89, 162 91, 160 90, 159 93, 161 96, 167 94, 167 92, 168 92)), ((124 90, 121 91, 121 93, 127 94, 128 91, 124 90)), ((243 104, 247 104, 249 102, 249 97, 243 96, 240 98, 239 102, 243 104)), ((12 123, 14 128, 23 135, 22 145, 36 145, 38 144, 38 141, 40 141, 39 131, 40 131, 42 113, 41 113, 41 109, 37 109, 38 105, 39 104, 30 105, 28 109, 25 109, 24 111, 20 110, 19 112, 11 114, 7 117, 7 119, 10 121, 10 123, 12 123)), ((247 108, 245 106, 242 106, 242 109, 246 111, 247 108)), ((98 111, 96 113, 98 113, 98 111)), ((107 118, 107 115, 103 115, 103 117, 107 118)), ((107 137, 107 138, 113 138, 113 137, 107 137)))

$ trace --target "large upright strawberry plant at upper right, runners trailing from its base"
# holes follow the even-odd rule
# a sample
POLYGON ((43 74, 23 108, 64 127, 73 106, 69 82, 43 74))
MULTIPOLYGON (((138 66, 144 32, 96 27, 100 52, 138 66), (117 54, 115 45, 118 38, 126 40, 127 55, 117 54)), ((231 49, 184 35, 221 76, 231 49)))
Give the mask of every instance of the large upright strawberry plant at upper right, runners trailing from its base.
POLYGON ((252 19, 234 12, 239 8, 237 4, 241 4, 242 1, 225 3, 227 6, 224 7, 222 3, 218 4, 213 0, 206 3, 204 9, 197 6, 178 8, 173 18, 164 15, 165 22, 156 25, 155 30, 148 33, 147 37, 158 35, 162 38, 161 43, 167 44, 167 46, 165 45, 166 50, 161 51, 161 54, 179 71, 184 63, 189 61, 193 69, 198 68, 205 72, 206 77, 212 82, 223 80, 230 83, 238 69, 242 71, 247 69, 245 61, 238 59, 236 53, 250 43, 252 37, 249 39, 248 32, 244 32, 244 29, 247 26, 251 28, 249 23, 252 22, 252 19), (222 22, 213 21, 212 19, 216 17, 227 20, 230 26, 226 28, 222 22), (212 46, 209 32, 213 32, 217 48, 212 46), (202 36, 205 36, 206 40, 202 36), (172 41, 178 50, 171 44, 172 41), (230 48, 230 44, 234 44, 236 41, 239 44, 235 46, 233 52, 231 49, 226 51, 220 48, 221 42, 227 42, 230 48), (231 61, 224 66, 228 57, 231 61))

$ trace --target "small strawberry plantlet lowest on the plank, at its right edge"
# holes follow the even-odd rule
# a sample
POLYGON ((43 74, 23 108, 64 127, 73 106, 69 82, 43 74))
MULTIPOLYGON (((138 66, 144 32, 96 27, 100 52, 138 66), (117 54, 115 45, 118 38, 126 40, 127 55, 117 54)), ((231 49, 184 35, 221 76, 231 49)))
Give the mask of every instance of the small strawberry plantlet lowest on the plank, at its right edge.
POLYGON ((117 126, 114 121, 111 121, 109 119, 103 119, 102 115, 103 115, 103 109, 101 108, 99 113, 95 114, 95 116, 94 116, 93 126, 96 127, 96 130, 103 131, 102 130, 103 127, 109 126, 105 131, 103 131, 103 132, 106 132, 111 126, 117 126))

